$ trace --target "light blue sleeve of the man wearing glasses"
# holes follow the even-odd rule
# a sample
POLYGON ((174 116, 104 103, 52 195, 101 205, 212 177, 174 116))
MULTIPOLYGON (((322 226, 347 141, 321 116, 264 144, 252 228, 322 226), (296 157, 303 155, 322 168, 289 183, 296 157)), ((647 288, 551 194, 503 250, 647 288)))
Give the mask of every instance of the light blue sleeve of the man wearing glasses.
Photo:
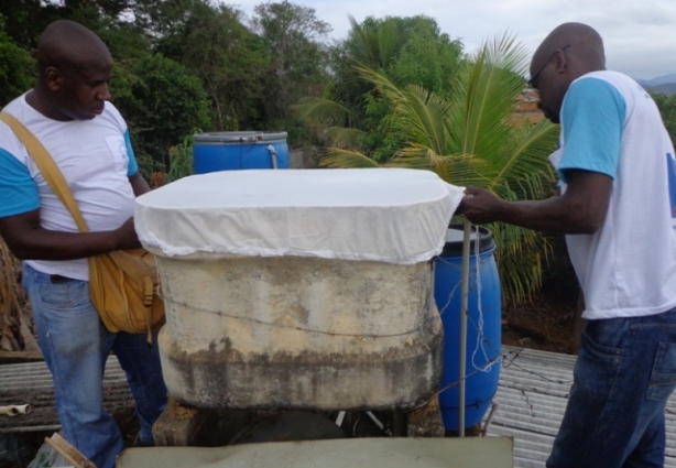
POLYGON ((620 161, 620 141, 626 104, 618 89, 599 78, 582 78, 568 88, 564 100, 564 154, 558 166, 585 170, 614 178, 620 161))

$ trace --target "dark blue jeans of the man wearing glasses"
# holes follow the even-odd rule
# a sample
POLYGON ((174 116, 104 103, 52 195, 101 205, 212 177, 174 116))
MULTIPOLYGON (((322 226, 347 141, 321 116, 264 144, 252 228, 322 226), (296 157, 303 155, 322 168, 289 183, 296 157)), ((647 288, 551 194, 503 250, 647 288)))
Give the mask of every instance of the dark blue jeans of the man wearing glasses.
POLYGON ((662 468, 676 387, 676 309, 589 320, 549 468, 662 468))

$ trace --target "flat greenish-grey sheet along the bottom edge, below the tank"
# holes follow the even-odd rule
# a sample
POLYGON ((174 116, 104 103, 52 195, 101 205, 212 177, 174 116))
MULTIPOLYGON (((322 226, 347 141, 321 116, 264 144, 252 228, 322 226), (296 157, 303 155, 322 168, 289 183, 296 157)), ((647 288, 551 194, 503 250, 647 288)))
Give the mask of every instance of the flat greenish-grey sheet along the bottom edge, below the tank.
POLYGON ((117 468, 512 468, 508 437, 350 438, 129 448, 117 468))

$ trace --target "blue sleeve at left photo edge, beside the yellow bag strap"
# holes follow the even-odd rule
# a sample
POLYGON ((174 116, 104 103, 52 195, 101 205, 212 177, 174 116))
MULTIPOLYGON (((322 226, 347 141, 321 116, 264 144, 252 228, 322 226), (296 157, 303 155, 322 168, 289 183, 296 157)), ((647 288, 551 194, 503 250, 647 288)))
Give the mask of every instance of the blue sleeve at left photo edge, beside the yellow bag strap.
POLYGON ((0 148, 0 218, 40 208, 37 185, 29 168, 0 148))

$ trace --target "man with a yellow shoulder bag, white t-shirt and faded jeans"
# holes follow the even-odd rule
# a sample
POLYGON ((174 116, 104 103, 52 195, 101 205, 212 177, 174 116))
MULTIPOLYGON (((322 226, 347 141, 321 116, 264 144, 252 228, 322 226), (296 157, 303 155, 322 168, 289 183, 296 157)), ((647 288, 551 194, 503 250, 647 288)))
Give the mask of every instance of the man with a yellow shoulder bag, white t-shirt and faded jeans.
MULTIPOLYGON (((112 468, 123 442, 102 407, 112 349, 127 372, 141 423, 139 445, 166 405, 157 346, 142 334, 111 334, 89 297, 87 257, 140 247, 134 197, 148 192, 118 110, 108 102, 112 58, 91 31, 50 24, 37 45, 35 87, 10 102, 61 168, 90 230, 80 233, 26 149, 0 123, 0 235, 23 260, 23 286, 52 376, 65 437, 99 468, 112 468)), ((156 344, 156 340, 153 342, 156 344)))

